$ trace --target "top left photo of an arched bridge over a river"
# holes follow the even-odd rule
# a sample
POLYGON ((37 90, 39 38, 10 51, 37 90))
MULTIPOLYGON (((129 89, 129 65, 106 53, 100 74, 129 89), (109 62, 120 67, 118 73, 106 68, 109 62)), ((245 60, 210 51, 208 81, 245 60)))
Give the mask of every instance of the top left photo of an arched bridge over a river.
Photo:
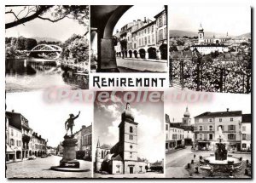
POLYGON ((6 6, 6 91, 88 89, 89 36, 89 6, 6 6))

